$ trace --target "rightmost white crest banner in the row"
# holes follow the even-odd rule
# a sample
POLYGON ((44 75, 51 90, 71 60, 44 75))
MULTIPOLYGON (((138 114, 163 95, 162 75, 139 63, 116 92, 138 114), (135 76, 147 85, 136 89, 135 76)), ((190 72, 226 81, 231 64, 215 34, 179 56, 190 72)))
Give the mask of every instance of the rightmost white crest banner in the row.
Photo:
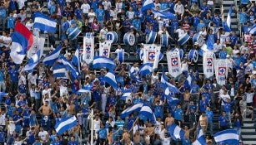
POLYGON ((218 59, 215 61, 215 74, 218 85, 225 85, 226 74, 228 73, 228 63, 226 59, 218 59))

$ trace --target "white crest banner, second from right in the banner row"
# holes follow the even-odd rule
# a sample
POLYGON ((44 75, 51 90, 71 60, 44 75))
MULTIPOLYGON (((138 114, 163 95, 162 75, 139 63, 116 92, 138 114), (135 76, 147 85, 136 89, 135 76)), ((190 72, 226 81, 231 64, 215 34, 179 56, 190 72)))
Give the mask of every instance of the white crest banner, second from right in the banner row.
POLYGON ((214 53, 212 51, 203 52, 203 75, 206 78, 213 77, 214 74, 214 53))

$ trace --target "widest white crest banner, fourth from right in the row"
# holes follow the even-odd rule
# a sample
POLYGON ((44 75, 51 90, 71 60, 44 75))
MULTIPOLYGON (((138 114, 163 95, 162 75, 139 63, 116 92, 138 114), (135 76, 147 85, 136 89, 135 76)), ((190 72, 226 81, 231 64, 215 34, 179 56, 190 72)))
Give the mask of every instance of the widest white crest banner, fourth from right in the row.
POLYGON ((155 44, 144 44, 143 48, 143 64, 153 63, 153 70, 158 68, 159 56, 161 54, 161 46, 155 44))

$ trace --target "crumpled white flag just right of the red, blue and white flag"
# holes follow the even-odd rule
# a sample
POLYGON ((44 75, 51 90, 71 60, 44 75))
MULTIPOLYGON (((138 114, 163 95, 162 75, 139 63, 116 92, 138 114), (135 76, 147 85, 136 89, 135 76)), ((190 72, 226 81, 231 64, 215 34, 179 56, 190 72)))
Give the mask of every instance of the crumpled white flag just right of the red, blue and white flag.
POLYGON ((33 36, 33 46, 27 52, 27 57, 31 58, 34 54, 36 54, 40 50, 40 57, 43 55, 43 47, 44 47, 45 38, 33 36))

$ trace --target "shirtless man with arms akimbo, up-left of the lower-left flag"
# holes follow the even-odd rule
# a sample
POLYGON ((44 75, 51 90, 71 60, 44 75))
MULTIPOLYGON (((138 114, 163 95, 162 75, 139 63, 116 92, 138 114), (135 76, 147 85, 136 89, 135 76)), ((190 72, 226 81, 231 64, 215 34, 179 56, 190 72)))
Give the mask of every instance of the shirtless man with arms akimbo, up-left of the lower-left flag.
POLYGON ((49 102, 45 101, 45 104, 38 110, 39 114, 42 115, 42 127, 49 128, 50 115, 53 114, 53 109, 48 106, 49 102))

